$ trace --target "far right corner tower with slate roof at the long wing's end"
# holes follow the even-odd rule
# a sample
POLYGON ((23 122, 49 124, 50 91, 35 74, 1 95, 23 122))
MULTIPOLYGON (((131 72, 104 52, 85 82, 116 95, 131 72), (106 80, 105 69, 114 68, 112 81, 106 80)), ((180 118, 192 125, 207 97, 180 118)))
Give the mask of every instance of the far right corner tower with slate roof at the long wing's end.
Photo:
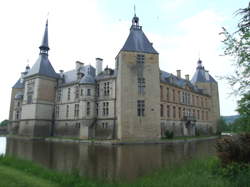
POLYGON ((205 91, 206 94, 211 96, 210 102, 210 120, 212 122, 213 133, 217 131, 217 121, 220 118, 220 104, 219 104, 219 91, 218 83, 216 80, 205 70, 202 61, 199 59, 196 72, 191 80, 198 88, 205 91))

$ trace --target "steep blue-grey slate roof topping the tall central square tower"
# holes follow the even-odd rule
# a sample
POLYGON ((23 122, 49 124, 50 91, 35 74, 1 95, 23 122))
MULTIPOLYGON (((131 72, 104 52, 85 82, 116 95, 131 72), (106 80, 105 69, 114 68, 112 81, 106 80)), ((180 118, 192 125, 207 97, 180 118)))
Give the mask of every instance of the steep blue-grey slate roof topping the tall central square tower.
MULTIPOLYGON (((135 17, 133 18, 133 20, 134 19, 135 17)), ((134 24, 130 28, 129 36, 121 51, 158 54, 158 52, 153 48, 152 43, 150 43, 150 41, 142 31, 142 27, 134 24)))

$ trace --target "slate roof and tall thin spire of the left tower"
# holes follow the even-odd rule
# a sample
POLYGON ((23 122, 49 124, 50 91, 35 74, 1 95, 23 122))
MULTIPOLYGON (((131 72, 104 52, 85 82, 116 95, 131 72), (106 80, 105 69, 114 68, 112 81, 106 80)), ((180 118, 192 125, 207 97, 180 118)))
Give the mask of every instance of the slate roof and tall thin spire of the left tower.
POLYGON ((48 20, 46 21, 42 44, 39 47, 39 49, 40 49, 39 57, 36 63, 30 69, 26 77, 30 77, 34 75, 43 75, 43 76, 51 77, 51 78, 59 78, 60 77, 59 74, 55 72, 48 58, 48 51, 49 51, 48 20))

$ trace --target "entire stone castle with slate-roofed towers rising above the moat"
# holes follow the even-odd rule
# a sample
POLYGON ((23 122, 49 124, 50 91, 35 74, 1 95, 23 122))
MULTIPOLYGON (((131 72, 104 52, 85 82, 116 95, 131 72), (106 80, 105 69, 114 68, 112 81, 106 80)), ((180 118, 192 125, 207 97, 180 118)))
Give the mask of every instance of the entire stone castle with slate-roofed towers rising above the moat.
POLYGON ((46 24, 38 60, 12 88, 9 131, 26 136, 160 138, 165 131, 194 135, 216 131, 217 82, 202 62, 192 80, 159 70, 159 54, 139 18, 116 56, 115 69, 76 62, 56 73, 48 59, 46 24))

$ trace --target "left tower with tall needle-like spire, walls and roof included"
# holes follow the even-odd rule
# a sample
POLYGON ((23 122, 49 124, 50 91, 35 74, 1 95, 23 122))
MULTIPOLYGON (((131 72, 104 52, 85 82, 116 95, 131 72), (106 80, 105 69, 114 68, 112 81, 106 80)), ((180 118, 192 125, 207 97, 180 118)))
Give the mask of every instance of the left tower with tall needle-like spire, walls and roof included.
POLYGON ((51 135, 54 113, 55 88, 59 75, 48 59, 48 21, 40 54, 24 77, 24 97, 19 134, 44 137, 51 135))

